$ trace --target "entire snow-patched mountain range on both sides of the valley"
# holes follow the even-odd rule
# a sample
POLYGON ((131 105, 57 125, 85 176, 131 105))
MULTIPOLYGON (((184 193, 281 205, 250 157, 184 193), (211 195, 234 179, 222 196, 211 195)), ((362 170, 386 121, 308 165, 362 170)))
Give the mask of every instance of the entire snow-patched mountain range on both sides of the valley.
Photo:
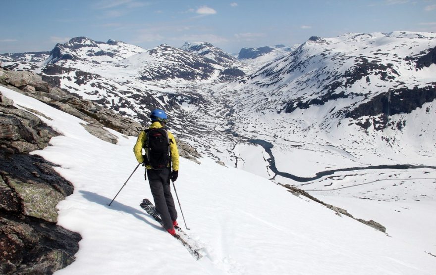
POLYGON ((289 175, 434 165, 435 46, 433 33, 345 34, 234 60, 208 43, 146 50, 75 38, 35 72, 144 125, 163 108, 171 130, 203 154, 295 184, 289 175))

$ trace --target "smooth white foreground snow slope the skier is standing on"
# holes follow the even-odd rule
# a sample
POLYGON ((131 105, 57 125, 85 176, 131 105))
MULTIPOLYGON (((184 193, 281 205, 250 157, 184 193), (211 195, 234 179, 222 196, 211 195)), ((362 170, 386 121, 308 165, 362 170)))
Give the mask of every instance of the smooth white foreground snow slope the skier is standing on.
MULTIPOLYGON (((43 113, 50 119, 38 116, 63 134, 33 152, 58 164, 54 169, 75 187, 57 206, 58 224, 83 239, 76 261, 58 275, 435 274, 436 258, 411 240, 418 232, 407 242, 388 236, 208 158, 201 165, 181 159, 176 182, 189 234, 204 247, 205 257, 195 261, 139 207, 144 197, 151 198, 142 167, 108 206, 137 165, 135 137, 108 130, 119 142, 102 141, 78 118, 6 88, 0 91, 16 107, 43 113)), ((428 203, 421 213, 434 211, 434 200, 428 203)), ((181 217, 178 221, 183 225, 181 217)), ((430 235, 436 227, 430 223, 421 230, 430 235)))

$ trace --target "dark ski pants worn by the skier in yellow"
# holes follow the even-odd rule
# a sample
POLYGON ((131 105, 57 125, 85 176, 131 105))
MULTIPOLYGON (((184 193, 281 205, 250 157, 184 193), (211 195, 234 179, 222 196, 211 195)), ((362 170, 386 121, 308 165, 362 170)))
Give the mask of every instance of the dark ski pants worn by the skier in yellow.
POLYGON ((169 185, 170 170, 147 169, 147 176, 156 210, 162 218, 164 228, 171 229, 173 228, 172 221, 177 220, 177 211, 169 185))

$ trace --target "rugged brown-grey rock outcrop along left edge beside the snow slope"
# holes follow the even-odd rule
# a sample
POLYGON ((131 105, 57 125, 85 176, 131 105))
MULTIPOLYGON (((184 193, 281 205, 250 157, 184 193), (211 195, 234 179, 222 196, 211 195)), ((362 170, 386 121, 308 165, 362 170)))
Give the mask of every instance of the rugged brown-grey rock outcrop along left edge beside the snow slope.
POLYGON ((53 163, 28 154, 59 134, 12 104, 0 93, 0 273, 53 274, 71 264, 79 249, 80 235, 56 225, 55 206, 73 186, 53 163))

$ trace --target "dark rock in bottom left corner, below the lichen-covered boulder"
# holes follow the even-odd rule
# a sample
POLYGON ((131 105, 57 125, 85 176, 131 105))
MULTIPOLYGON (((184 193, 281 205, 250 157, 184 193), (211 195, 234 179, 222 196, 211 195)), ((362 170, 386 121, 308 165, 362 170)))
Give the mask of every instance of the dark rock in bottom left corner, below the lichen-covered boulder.
POLYGON ((80 239, 54 223, 0 210, 0 273, 53 274, 74 261, 80 239))

